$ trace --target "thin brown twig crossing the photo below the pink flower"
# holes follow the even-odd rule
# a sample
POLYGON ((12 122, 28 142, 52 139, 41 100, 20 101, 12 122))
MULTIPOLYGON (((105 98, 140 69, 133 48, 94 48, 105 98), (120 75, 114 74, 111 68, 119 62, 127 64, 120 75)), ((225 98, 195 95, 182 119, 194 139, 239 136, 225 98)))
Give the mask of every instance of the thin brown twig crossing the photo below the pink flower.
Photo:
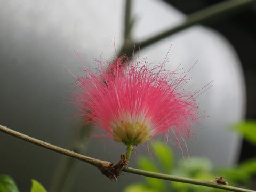
MULTIPOLYGON (((110 162, 107 162, 107 161, 102 161, 100 159, 88 157, 88 156, 85 156, 85 155, 81 155, 81 154, 75 153, 73 151, 70 151, 68 149, 64 149, 64 148, 61 148, 61 147, 58 147, 58 146, 54 146, 50 143, 47 143, 47 142, 29 137, 28 135, 19 133, 17 131, 13 131, 13 130, 11 130, 11 129, 5 127, 5 126, 2 126, 2 125, 0 125, 0 131, 4 132, 6 134, 12 135, 14 137, 17 137, 19 139, 22 139, 24 141, 27 141, 27 142, 33 143, 35 145, 41 146, 43 148, 53 150, 57 153, 67 155, 67 156, 72 157, 72 158, 76 158, 80 161, 84 161, 86 163, 89 163, 91 165, 94 165, 94 166, 98 167, 99 169, 102 168, 102 167, 108 167, 109 165, 113 165, 113 163, 110 163, 110 162)), ((140 169, 134 169, 132 167, 126 167, 126 168, 123 169, 123 171, 133 173, 133 174, 139 174, 139 175, 143 175, 143 176, 151 177, 151 178, 170 180, 170 181, 176 181, 176 182, 183 182, 183 183, 190 183, 190 184, 193 184, 193 185, 201 185, 201 186, 213 187, 213 188, 218 188, 218 189, 225 189, 225 190, 229 190, 229 191, 256 192, 256 191, 249 190, 249 189, 243 189, 243 188, 218 184, 215 180, 190 179, 190 178, 178 177, 178 176, 174 176, 174 175, 156 173, 156 172, 145 171, 145 170, 140 170, 140 169)))

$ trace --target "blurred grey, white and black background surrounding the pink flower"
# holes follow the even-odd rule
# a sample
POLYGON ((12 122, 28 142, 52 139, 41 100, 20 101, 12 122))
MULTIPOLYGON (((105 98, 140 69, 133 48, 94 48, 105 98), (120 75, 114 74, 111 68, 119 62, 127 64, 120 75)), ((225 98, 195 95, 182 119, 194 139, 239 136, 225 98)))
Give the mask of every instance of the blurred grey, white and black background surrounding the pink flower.
MULTIPOLYGON (((193 77, 191 90, 213 80, 211 89, 197 98, 202 114, 209 117, 202 118, 202 125, 193 130, 195 137, 187 140, 191 157, 209 159, 214 169, 236 167, 256 156, 254 141, 248 141, 241 131, 247 126, 241 124, 244 119, 256 118, 254 1, 0 2, 0 124, 87 156, 117 162, 125 146, 89 136, 93 130, 81 125, 74 106, 67 101, 76 88, 63 64, 81 74, 74 50, 86 66, 93 67, 94 58, 111 60, 115 49, 131 55, 134 42, 145 45, 148 38, 197 19, 196 25, 141 46, 135 56, 161 63, 171 46, 166 68, 181 64, 188 71, 198 60, 189 73, 193 77), (222 8, 228 11, 207 18, 211 11, 222 8), (206 10, 198 12, 202 9, 206 10)), ((178 162, 180 149, 166 145, 178 162)), ((4 133, 0 133, 0 151, 0 174, 11 175, 20 191, 29 190, 31 179, 49 191, 123 191, 134 182, 143 182, 142 177, 129 173, 110 182, 89 164, 4 133)), ((130 165, 137 166, 142 155, 149 157, 145 146, 134 152, 130 165)), ((251 184, 253 187, 253 178, 251 184)))

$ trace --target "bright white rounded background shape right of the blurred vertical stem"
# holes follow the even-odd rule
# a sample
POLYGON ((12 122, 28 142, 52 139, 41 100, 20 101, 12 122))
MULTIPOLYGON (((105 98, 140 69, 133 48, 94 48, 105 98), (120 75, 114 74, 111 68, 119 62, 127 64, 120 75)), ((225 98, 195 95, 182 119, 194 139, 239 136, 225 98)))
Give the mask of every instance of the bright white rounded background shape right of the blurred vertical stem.
MULTIPOLYGON (((134 15, 138 18, 134 27, 137 42, 186 18, 164 3, 147 0, 135 1, 134 15)), ((196 140, 188 142, 190 155, 208 157, 214 165, 235 163, 241 140, 231 127, 244 118, 245 110, 244 78, 236 52, 216 31, 195 26, 141 50, 139 55, 147 57, 149 63, 159 63, 171 45, 167 69, 175 69, 181 63, 188 71, 198 60, 187 75, 193 77, 189 82, 195 84, 192 90, 196 92, 214 81, 213 87, 197 98, 202 114, 210 117, 202 118, 202 129, 194 131, 196 140)))

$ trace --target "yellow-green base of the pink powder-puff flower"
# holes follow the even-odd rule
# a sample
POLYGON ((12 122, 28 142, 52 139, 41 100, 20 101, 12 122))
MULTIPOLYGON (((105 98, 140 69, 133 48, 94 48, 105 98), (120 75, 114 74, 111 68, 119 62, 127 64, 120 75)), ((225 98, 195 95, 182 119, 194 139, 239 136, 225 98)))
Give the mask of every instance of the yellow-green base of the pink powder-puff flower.
POLYGON ((136 123, 121 121, 121 124, 113 129, 114 140, 125 145, 138 145, 151 137, 147 125, 138 121, 136 123))

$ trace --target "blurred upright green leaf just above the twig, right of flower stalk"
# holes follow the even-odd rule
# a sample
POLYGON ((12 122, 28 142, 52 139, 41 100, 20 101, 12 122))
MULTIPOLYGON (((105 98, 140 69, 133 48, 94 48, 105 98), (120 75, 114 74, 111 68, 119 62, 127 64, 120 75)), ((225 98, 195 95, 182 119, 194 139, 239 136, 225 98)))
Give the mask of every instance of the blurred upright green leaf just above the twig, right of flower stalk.
POLYGON ((173 152, 169 146, 164 143, 156 141, 153 143, 153 150, 158 158, 158 161, 163 165, 166 173, 170 173, 173 169, 173 152))

